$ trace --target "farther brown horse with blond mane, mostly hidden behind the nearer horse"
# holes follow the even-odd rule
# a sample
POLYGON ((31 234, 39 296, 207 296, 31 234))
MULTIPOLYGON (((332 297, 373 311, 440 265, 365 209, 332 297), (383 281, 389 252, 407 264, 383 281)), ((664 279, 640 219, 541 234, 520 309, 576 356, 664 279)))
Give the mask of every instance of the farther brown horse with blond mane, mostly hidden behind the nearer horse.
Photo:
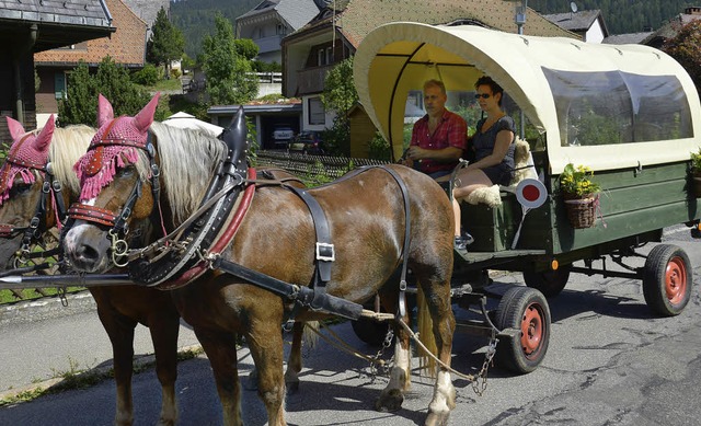
MULTIPOLYGON (((53 118, 42 131, 26 134, 22 125, 8 118, 14 143, 0 170, 0 227, 5 231, 0 239, 0 251, 14 254, 24 238, 30 218, 37 212, 42 188, 47 182, 47 166, 61 191, 56 197, 68 206, 80 193, 80 182, 72 166, 85 153, 95 129, 69 126, 54 129, 53 118), (15 237, 18 234, 18 237, 15 237)), ((47 182, 48 183, 48 182, 47 182)), ((49 195, 55 193, 48 193, 49 195)), ((41 214, 43 226, 37 228, 37 242, 64 218, 58 218, 57 203, 50 196, 41 214)), ((65 212, 64 212, 65 214, 65 212)), ((2 260, 7 265, 9 258, 2 260)), ((91 287, 97 314, 110 341, 114 357, 116 381, 116 425, 134 423, 131 375, 134 360, 134 331, 137 324, 149 327, 156 353, 156 370, 162 385, 162 408, 159 425, 173 425, 177 418, 175 379, 177 375, 177 334, 180 315, 170 295, 142 286, 91 287)))

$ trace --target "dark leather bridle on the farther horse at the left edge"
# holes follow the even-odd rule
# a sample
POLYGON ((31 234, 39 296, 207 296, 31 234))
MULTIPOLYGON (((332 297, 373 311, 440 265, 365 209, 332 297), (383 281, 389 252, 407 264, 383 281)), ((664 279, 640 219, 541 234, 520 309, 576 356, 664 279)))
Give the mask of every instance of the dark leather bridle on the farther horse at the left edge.
MULTIPOLYGON (((24 143, 24 141, 31 136, 31 134, 25 135, 18 142, 18 149, 15 152, 19 152, 19 147, 24 143)), ((37 253, 32 253, 31 246, 35 243, 42 242, 42 235, 46 231, 46 215, 48 212, 47 202, 50 196, 51 203, 54 204, 54 211, 56 215, 56 224, 61 229, 64 226, 64 220, 66 218, 66 205, 64 203, 64 197, 61 195, 62 185, 59 180, 54 175, 51 162, 47 161, 46 163, 37 163, 32 160, 22 160, 16 156, 9 156, 7 159, 8 163, 12 163, 19 166, 23 166, 33 171, 38 172, 42 176, 44 183, 42 185, 42 192, 39 194, 39 199, 36 204, 36 208, 34 209, 34 215, 30 219, 28 224, 24 227, 16 227, 9 223, 0 223, 0 238, 11 239, 20 233, 23 233, 22 243, 20 249, 15 255, 14 267, 19 267, 19 265, 25 264, 28 260, 33 257, 48 257, 57 254, 59 252, 58 249, 45 250, 37 253)))

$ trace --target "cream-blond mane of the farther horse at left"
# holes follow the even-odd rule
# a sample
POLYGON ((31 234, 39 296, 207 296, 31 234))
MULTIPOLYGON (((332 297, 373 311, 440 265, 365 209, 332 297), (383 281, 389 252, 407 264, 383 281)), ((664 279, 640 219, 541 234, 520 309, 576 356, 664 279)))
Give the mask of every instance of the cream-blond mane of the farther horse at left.
POLYGON ((80 194, 80 181, 73 171, 73 164, 85 153, 95 131, 94 128, 80 124, 54 130, 48 158, 54 175, 71 194, 80 194))

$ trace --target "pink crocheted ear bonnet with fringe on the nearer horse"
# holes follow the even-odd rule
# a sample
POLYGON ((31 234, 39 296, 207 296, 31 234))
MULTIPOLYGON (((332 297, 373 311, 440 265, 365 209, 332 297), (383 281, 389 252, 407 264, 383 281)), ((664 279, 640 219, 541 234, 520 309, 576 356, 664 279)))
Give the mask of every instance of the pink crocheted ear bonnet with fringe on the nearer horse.
POLYGON ((82 191, 80 200, 92 199, 107 186, 117 172, 117 168, 134 164, 139 160, 138 149, 148 142, 148 130, 153 123, 160 94, 135 117, 114 118, 110 101, 102 94, 97 99, 97 126, 88 152, 73 165, 78 173, 82 191))

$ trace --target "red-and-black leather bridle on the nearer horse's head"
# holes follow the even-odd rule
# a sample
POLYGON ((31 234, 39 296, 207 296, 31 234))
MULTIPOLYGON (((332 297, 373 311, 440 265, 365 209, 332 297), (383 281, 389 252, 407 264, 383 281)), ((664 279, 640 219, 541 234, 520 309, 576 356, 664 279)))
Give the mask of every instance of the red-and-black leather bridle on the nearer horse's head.
MULTIPOLYGON (((110 134, 110 129, 116 123, 117 118, 113 119, 106 127, 104 135, 110 134)), ((87 168, 87 172, 90 174, 99 173, 103 168, 102 164, 102 150, 103 147, 125 147, 125 148, 136 148, 146 153, 149 161, 149 171, 150 171, 150 184, 151 184, 151 193, 153 195, 154 208, 151 211, 151 215, 157 215, 159 217, 162 216, 161 205, 158 202, 161 192, 160 185, 160 175, 161 171, 156 162, 156 147, 151 141, 151 133, 149 131, 146 142, 139 142, 135 140, 128 139, 108 139, 103 137, 97 141, 93 141, 89 148, 89 150, 95 150, 94 157, 90 164, 87 168)), ((120 154, 120 153, 119 153, 120 154)), ((118 154, 118 156, 119 156, 118 154)), ((136 183, 131 188, 131 193, 127 197, 124 206, 118 211, 112 211, 108 209, 91 206, 83 203, 73 203, 68 209, 68 226, 72 224, 74 220, 84 220, 88 222, 96 223, 99 226, 111 227, 107 232, 111 239, 111 251, 112 251, 112 262, 115 266, 124 267, 127 265, 128 261, 123 261, 126 256, 129 244, 126 240, 129 234, 129 217, 134 212, 134 206, 137 200, 141 197, 142 194, 142 182, 141 179, 137 176, 136 183)))

